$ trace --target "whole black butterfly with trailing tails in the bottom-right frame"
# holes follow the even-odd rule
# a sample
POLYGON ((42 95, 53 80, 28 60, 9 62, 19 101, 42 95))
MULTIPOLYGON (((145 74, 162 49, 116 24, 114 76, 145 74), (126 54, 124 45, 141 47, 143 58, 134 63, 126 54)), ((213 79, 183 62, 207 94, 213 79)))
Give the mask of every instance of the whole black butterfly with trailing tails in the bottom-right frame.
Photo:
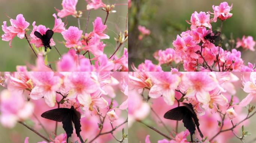
POLYGON ((199 129, 199 120, 193 109, 193 105, 191 103, 183 103, 183 105, 184 106, 176 107, 166 112, 164 114, 164 118, 177 121, 182 120, 184 126, 189 130, 191 141, 193 142, 193 134, 195 134, 195 125, 200 133, 200 136, 204 136, 202 135, 202 132, 199 129))

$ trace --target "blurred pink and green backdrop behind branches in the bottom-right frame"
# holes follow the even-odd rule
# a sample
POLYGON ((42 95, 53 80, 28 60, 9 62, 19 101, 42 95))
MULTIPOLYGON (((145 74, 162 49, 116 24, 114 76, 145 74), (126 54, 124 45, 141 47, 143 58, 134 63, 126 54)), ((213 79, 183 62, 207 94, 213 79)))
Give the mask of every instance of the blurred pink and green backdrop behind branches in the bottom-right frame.
MULTIPOLYGON (((246 78, 248 79, 250 77, 250 73, 249 72, 234 72, 234 74, 240 79, 237 82, 232 82, 236 88, 237 93, 235 94, 235 96, 237 96, 240 101, 242 99, 244 99, 248 93, 243 91, 243 85, 242 85, 242 78, 246 78)), ((230 92, 230 91, 229 91, 230 92)), ((148 90, 145 90, 144 92, 144 97, 147 97, 148 95, 148 90)), ((235 98, 234 98, 235 99, 235 98)), ((168 106, 167 104, 165 104, 164 100, 162 97, 159 97, 157 99, 150 99, 148 102, 151 107, 155 110, 155 112, 158 114, 159 117, 163 117, 164 113, 167 112, 168 110, 177 107, 177 103, 176 105, 173 106, 168 106), (154 105, 154 102, 158 103, 158 105, 154 105), (160 104, 160 105, 159 105, 160 104)), ((234 104, 237 102, 234 102, 234 104)), ((250 103, 250 105, 256 105, 256 99, 253 99, 253 101, 250 103)), ((255 110, 254 110, 255 111, 255 110)), ((253 112, 254 112, 253 111, 253 112)), ((243 119, 244 119, 244 115, 247 115, 248 111, 246 108, 243 108, 243 110, 240 112, 240 114, 238 114, 238 117, 242 116, 243 114, 243 119)), ((216 114, 215 114, 216 115, 216 114)), ((237 118, 238 118, 237 117, 237 118)), ((207 127, 203 126, 203 124, 205 125, 205 123, 207 123, 207 118, 204 118, 203 116, 199 116, 199 128, 202 130, 204 128, 205 130, 209 130, 212 131, 211 129, 211 125, 208 125, 207 127), (201 120, 200 120, 201 118, 201 120)), ((213 119, 213 118, 211 118, 213 119)), ((214 119, 213 119, 214 120, 214 119)), ((158 120, 158 118, 155 116, 155 114, 150 111, 149 115, 144 118, 144 120, 142 120, 144 123, 146 123, 147 125, 151 125, 153 127, 155 127, 156 129, 158 129, 159 131, 161 131, 162 133, 168 135, 169 133, 167 132, 167 130, 165 130, 165 128, 163 127, 163 125, 161 124, 161 122, 158 120), (157 119, 157 120, 156 120, 157 119)), ((173 131, 176 130, 175 129, 175 125, 176 125, 176 121, 173 120, 168 120, 168 119, 162 119, 162 121, 164 121, 165 125, 167 125, 168 130, 173 131)), ((241 120, 240 120, 241 121, 241 120)), ((241 123, 241 125, 244 125, 244 130, 245 131, 249 131, 250 133, 252 133, 251 136, 247 136, 245 137, 245 140, 243 140, 245 143, 256 143, 256 114, 253 115, 249 120, 244 121, 243 123, 241 123), (247 122, 249 121, 249 122, 247 122)), ((236 123, 236 122, 235 122, 236 123)), ((234 124, 235 124, 234 123, 234 124)), ((217 120, 216 120, 216 126, 218 125, 217 120)), ((149 139, 151 141, 151 143, 157 143, 158 140, 162 140, 165 139, 163 136, 161 136, 160 134, 156 133, 156 131, 150 129, 149 127, 146 127, 146 125, 143 125, 139 122, 134 122, 132 123, 132 125, 129 125, 129 129, 128 129, 128 134, 129 134, 129 139, 128 142, 129 143, 144 143, 145 142, 145 138, 147 135, 150 135, 149 139)), ((214 127, 216 127, 214 126, 214 127)), ((231 127, 231 126, 229 126, 231 127)), ((179 128, 178 128, 178 133, 180 133, 181 131, 185 131, 186 128, 184 127, 182 121, 179 121, 179 128)), ((195 133, 198 133, 198 130, 196 129, 195 133)), ((202 131, 202 133, 204 134, 204 132, 202 131)), ((209 133, 209 132, 208 132, 209 133)), ((214 132, 213 134, 216 134, 217 132, 214 132)), ((227 132, 226 132, 227 133, 227 132)), ((232 132, 230 131, 229 133, 232 134, 232 132)), ((238 127, 238 132, 236 132, 238 134, 238 136, 241 136, 242 131, 241 131, 241 127, 238 127)), ((225 134, 225 132, 224 132, 225 134)), ((232 137, 234 135, 232 134, 232 137)), ((197 134, 195 136, 195 134, 193 135, 193 139, 195 139, 195 137, 199 137, 199 135, 197 134)), ((204 138, 205 138, 205 134, 204 134, 204 138)), ((216 137, 217 138, 217 137, 216 137)), ((190 141, 190 135, 187 136, 188 141, 190 141)), ((199 139, 201 139, 201 137, 199 137, 199 139)), ((230 139, 230 137, 228 137, 228 139, 230 139)), ((218 142, 218 143, 224 143, 224 142, 218 142)), ((228 142, 225 143, 242 143, 241 140, 237 139, 235 136, 231 139, 228 140, 228 142)))

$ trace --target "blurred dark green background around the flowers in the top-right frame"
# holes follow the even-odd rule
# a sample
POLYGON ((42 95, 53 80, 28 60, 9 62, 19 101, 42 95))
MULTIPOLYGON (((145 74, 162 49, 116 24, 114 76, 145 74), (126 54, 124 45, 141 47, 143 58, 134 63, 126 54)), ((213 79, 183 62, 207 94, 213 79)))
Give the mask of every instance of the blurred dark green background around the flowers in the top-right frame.
MULTIPOLYGON (((223 0, 132 0, 129 11, 129 65, 144 62, 144 59, 153 60, 153 53, 157 50, 173 48, 172 42, 190 25, 185 20, 190 20, 193 12, 213 12, 212 6, 219 5, 223 0), (142 41, 138 40, 138 25, 146 26, 151 34, 142 41)), ((226 0, 229 6, 233 3, 231 13, 233 16, 223 23, 222 34, 227 39, 231 35, 236 40, 243 35, 251 35, 256 40, 256 1, 255 0, 226 0)), ((220 21, 211 23, 213 30, 220 26, 220 21)), ((223 44, 225 48, 225 42, 223 44)), ((256 52, 242 51, 245 64, 250 61, 255 63, 256 52)), ((164 71, 170 67, 162 66, 164 71)), ((130 69, 131 70, 131 69, 130 69)))

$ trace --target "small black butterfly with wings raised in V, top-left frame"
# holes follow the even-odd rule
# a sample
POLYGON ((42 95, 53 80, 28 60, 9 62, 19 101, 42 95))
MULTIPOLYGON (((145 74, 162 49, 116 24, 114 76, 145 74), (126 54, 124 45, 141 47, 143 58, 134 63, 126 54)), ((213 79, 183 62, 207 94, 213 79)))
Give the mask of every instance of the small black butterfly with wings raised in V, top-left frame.
POLYGON ((52 47, 50 46, 50 43, 51 43, 50 40, 53 34, 54 32, 51 29, 47 30, 43 35, 41 35, 37 31, 34 32, 34 35, 37 36, 37 38, 42 40, 43 46, 45 46, 45 51, 47 50, 47 48, 52 49, 52 47))

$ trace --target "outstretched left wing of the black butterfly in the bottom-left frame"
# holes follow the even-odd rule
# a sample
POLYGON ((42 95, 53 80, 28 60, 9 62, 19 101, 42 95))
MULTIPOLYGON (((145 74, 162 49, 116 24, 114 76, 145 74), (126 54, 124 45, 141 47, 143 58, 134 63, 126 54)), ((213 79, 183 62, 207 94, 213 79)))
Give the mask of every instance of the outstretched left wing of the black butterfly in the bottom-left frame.
POLYGON ((44 112, 41 115, 41 117, 49 119, 49 120, 61 122, 61 121, 63 121, 63 118, 68 115, 70 110, 71 109, 69 109, 69 108, 52 109, 52 110, 44 112))

